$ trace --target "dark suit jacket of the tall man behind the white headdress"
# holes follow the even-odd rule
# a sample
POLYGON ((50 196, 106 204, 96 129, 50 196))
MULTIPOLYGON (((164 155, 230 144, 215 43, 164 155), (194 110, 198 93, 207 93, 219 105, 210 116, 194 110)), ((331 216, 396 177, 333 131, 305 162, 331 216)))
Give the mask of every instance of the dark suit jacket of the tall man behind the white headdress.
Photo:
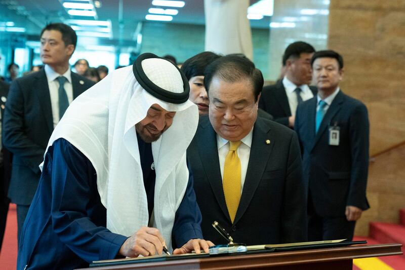
MULTIPOLYGON (((74 72, 71 78, 73 98, 94 85, 74 72)), ((31 203, 41 176, 38 165, 44 159, 53 129, 45 69, 13 81, 3 121, 4 147, 13 153, 9 187, 9 198, 13 203, 31 203)))

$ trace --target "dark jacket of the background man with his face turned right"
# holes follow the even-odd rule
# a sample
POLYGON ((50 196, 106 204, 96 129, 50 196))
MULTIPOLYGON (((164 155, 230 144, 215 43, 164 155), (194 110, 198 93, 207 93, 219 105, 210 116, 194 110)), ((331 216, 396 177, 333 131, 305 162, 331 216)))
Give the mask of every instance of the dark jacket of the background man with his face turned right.
MULTIPOLYGON (((310 86, 309 89, 316 96, 316 87, 310 86)), ((263 87, 259 108, 273 115, 275 122, 289 126, 288 118, 291 116, 291 109, 282 80, 278 80, 275 85, 263 87)))

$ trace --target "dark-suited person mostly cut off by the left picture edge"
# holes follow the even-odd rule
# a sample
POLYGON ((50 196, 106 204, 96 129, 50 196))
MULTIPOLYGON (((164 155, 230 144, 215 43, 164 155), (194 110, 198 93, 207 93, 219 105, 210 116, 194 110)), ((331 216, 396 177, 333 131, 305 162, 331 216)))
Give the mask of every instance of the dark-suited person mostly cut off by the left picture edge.
MULTIPOLYGON (((0 58, 1 59, 1 58, 0 58)), ((3 120, 4 108, 9 94, 10 85, 0 80, 0 128, 3 120)), ((2 249, 4 230, 6 229, 7 213, 9 212, 10 199, 7 190, 10 182, 10 153, 2 147, 0 135, 0 250, 2 249)))

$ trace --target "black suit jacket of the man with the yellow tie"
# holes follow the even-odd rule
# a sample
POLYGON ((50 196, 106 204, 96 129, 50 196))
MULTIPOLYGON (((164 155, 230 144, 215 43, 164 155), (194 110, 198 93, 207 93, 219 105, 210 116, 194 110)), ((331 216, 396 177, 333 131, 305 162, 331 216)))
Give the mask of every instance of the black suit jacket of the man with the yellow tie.
POLYGON ((301 156, 294 131, 258 118, 253 130, 248 171, 234 223, 222 188, 216 133, 208 115, 201 117, 187 149, 194 190, 203 214, 204 238, 225 244, 212 227, 218 221, 235 242, 248 245, 307 239, 306 198, 301 156), (266 144, 270 140, 270 144, 266 144))

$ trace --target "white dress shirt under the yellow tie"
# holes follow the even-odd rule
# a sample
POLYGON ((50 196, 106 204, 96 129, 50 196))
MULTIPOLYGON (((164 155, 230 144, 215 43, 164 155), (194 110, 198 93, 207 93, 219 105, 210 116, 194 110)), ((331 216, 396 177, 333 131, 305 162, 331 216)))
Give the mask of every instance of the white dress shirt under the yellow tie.
MULTIPOLYGON (((242 143, 236 150, 237 156, 240 160, 240 169, 241 169, 241 189, 240 192, 244 189, 246 172, 248 171, 249 157, 250 157, 250 148, 252 145, 253 137, 253 128, 245 138, 241 139, 242 143)), ((225 158, 229 152, 229 141, 222 138, 217 134, 217 145, 218 145, 218 157, 219 157, 219 167, 221 168, 221 178, 224 179, 224 165, 225 158)))

